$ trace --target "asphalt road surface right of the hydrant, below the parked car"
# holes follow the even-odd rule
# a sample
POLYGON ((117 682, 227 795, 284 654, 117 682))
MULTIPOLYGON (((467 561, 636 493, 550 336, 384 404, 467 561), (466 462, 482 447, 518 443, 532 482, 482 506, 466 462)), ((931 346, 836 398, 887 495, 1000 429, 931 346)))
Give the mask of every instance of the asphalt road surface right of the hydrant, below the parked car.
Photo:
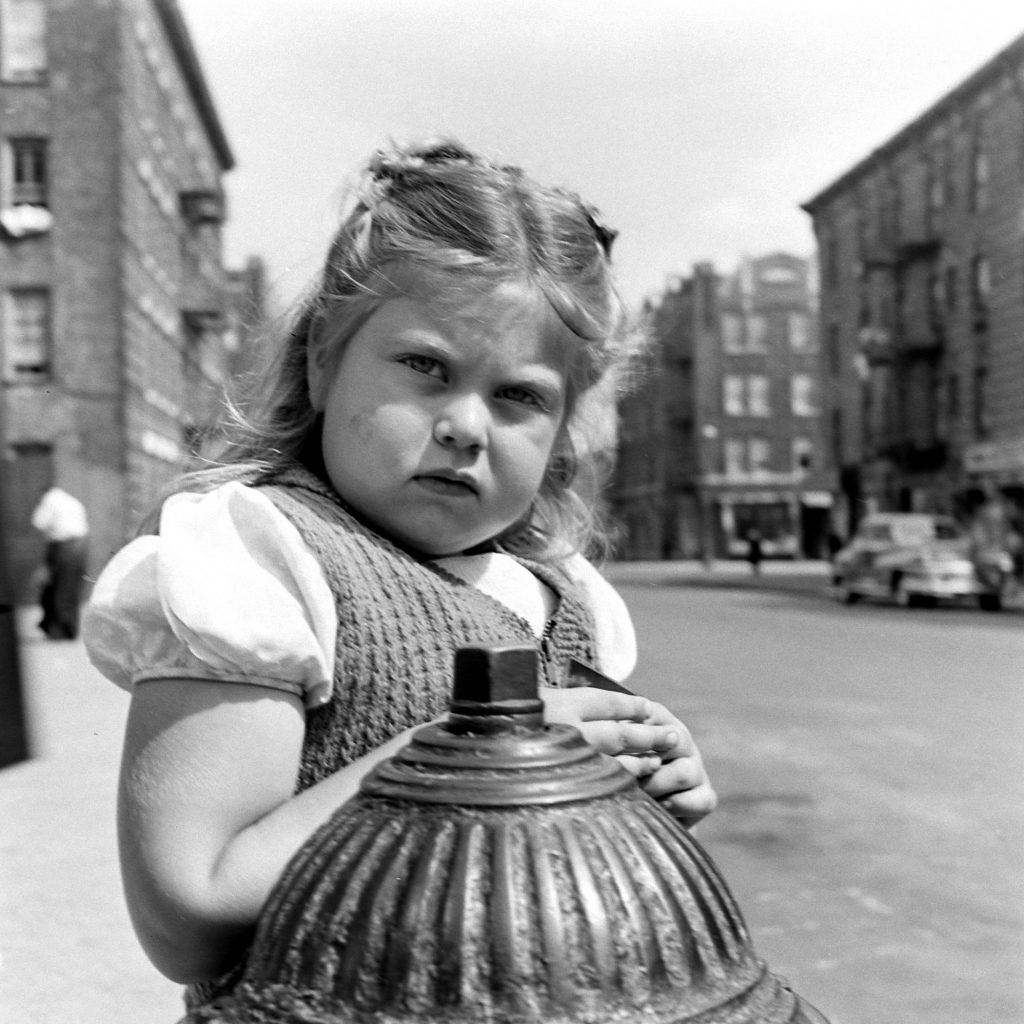
POLYGON ((755 947, 833 1024, 1020 1024, 1024 612, 779 583, 620 588, 755 947))

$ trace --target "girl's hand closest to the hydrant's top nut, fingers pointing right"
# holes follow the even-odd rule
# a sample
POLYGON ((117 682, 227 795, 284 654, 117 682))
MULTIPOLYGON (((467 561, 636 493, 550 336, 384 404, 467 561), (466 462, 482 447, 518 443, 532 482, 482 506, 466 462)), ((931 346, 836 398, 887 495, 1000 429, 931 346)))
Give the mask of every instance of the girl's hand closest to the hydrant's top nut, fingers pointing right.
POLYGON ((617 758, 637 778, 652 775, 678 744, 675 720, 663 721, 660 706, 646 697, 592 686, 542 686, 541 699, 548 722, 574 726, 591 746, 617 758))

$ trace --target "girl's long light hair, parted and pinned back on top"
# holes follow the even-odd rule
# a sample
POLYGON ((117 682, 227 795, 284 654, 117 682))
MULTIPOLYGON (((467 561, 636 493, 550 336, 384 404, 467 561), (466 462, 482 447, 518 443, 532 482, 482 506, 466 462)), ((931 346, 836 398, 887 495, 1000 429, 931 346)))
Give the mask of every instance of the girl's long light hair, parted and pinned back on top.
MULTIPOLYGON (((311 350, 340 352, 382 302, 413 290, 451 302, 524 282, 566 329, 569 402, 528 515, 495 540, 539 560, 603 554, 597 499, 614 445, 615 400, 645 342, 614 288, 613 238, 575 194, 454 140, 378 151, 257 393, 229 403, 217 463, 272 476, 298 460, 323 475, 307 385, 311 350)), ((212 486, 223 476, 223 469, 190 474, 188 485, 212 486)))

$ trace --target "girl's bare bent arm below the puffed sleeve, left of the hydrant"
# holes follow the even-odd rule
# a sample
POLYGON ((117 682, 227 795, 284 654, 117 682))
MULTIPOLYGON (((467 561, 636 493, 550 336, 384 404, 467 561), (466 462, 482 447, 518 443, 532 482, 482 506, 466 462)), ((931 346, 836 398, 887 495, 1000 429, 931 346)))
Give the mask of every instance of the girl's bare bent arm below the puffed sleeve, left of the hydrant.
POLYGON ((300 698, 237 683, 136 684, 118 799, 132 923, 181 983, 231 967, 288 860, 413 731, 295 796, 300 698))

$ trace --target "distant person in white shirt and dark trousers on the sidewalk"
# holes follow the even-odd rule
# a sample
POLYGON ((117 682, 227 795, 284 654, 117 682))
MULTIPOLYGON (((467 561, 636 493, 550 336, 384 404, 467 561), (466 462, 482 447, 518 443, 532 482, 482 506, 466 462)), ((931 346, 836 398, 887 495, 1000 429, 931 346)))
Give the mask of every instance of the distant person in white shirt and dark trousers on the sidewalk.
POLYGON ((32 513, 32 525, 46 538, 39 628, 51 640, 74 640, 89 544, 85 506, 61 487, 50 487, 32 513))

